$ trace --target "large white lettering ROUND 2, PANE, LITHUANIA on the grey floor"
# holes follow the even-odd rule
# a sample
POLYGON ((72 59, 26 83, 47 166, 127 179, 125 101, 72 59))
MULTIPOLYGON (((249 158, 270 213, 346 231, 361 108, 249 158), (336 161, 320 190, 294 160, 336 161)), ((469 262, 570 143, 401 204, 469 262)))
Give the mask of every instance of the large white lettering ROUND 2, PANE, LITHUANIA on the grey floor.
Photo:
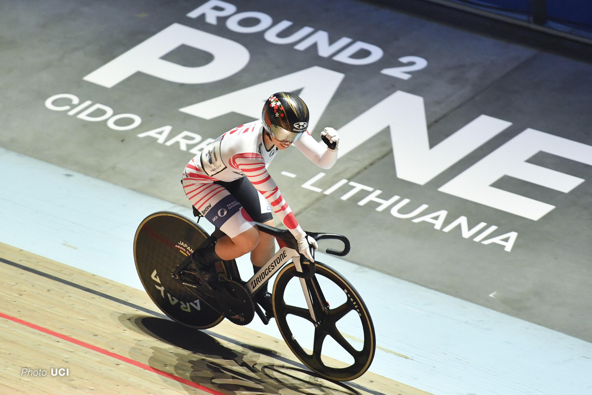
MULTIPOLYGON (((333 44, 329 44, 329 33, 322 30, 315 31, 311 27, 301 27, 291 36, 278 37, 282 30, 292 25, 292 22, 284 20, 274 25, 268 14, 256 11, 237 12, 236 5, 220 0, 205 2, 186 14, 186 17, 199 18, 198 20, 203 23, 218 26, 220 29, 224 29, 226 26, 227 29, 235 33, 260 32, 262 33, 261 39, 268 42, 270 46, 295 44, 293 49, 296 51, 316 46, 319 56, 330 57, 335 62, 345 63, 352 68, 363 68, 365 65, 377 62, 384 55, 380 47, 354 41, 348 37, 342 37, 333 44), (258 23, 249 27, 239 24, 240 21, 247 18, 255 19, 258 23), (366 55, 361 58, 360 53, 366 55)), ((173 23, 92 71, 83 79, 101 87, 112 88, 131 75, 141 72, 178 84, 208 84, 237 74, 249 61, 249 50, 242 44, 181 23, 173 23), (182 45, 209 52, 213 55, 213 60, 203 66, 189 67, 161 59, 162 56, 182 45)), ((404 65, 395 64, 393 67, 382 69, 381 73, 407 80, 417 75, 417 72, 428 65, 427 60, 419 56, 403 56, 398 58, 398 61, 404 65)), ((310 66, 200 103, 187 103, 179 111, 206 120, 230 113, 239 113, 258 119, 260 117, 260 103, 265 102, 270 92, 301 90, 300 96, 310 108, 310 122, 308 125, 295 124, 294 130, 305 130, 307 127, 308 130, 313 130, 345 77, 346 75, 340 72, 320 66, 310 66)), ((99 103, 91 106, 91 100, 86 100, 75 107, 79 101, 81 100, 72 94, 56 94, 47 99, 46 107, 55 111, 69 110, 67 113, 70 115, 78 113, 77 117, 82 120, 92 120, 93 122, 106 120, 107 126, 115 130, 130 130, 141 123, 140 117, 136 114, 113 116, 114 111, 110 107, 99 103), (96 116, 93 115, 95 111, 103 113, 96 116), (117 120, 126 118, 131 120, 130 125, 121 126, 115 123, 117 120)), ((449 133, 447 138, 430 148, 423 97, 397 90, 365 112, 354 116, 338 130, 340 135, 339 157, 355 151, 368 139, 388 128, 396 176, 398 179, 423 186, 509 128, 510 125, 512 123, 506 120, 481 114, 462 128, 449 133), (363 132, 361 132, 362 130, 363 132)), ((162 126, 139 133, 138 136, 140 138, 147 136, 156 138, 159 144, 166 146, 178 143, 182 151, 188 151, 188 145, 197 144, 189 150, 192 154, 197 154, 213 141, 213 139, 201 141, 200 135, 187 131, 169 137, 171 130, 171 126, 162 126), (201 144, 199 144, 200 142, 201 144)), ((551 212, 555 206, 518 193, 498 189, 492 184, 502 177, 509 176, 563 193, 570 193, 584 182, 584 179, 527 162, 529 158, 539 152, 592 165, 592 146, 527 128, 498 146, 477 163, 472 164, 471 167, 436 186, 437 190, 522 218, 538 221, 551 212)), ((321 174, 324 175, 324 173, 321 174)), ((321 190, 311 186, 311 182, 316 180, 309 180, 308 189, 318 193, 321 190)), ((355 188, 358 187, 355 186, 355 188)), ((374 188, 362 185, 356 192, 359 190, 372 191, 374 188)), ((328 195, 327 191, 323 193, 328 195)), ((376 198, 377 195, 371 194, 369 196, 370 200, 386 202, 386 200, 376 198)), ((342 197, 342 200, 346 199, 342 197)), ((427 207, 427 205, 424 206, 427 207)), ((218 214, 218 210, 213 212, 218 214)), ((445 217, 442 212, 445 211, 440 210, 424 215, 423 221, 433 222, 434 227, 440 230, 445 217)), ((481 228, 477 227, 469 229, 465 216, 458 218, 453 224, 461 227, 463 237, 465 235, 469 237, 469 234, 473 235, 471 231, 481 231, 481 228)), ((488 231, 493 232, 490 228, 482 233, 475 233, 477 237, 473 240, 481 241, 485 238, 485 235, 482 234, 488 231)), ((506 251, 510 251, 516 236, 516 232, 507 232, 481 242, 501 244, 506 251)))

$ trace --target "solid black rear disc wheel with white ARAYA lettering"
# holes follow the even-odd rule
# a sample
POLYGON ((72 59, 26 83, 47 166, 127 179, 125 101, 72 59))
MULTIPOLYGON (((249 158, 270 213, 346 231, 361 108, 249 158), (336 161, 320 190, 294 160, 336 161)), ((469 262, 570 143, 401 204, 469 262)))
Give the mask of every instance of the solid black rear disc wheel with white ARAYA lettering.
MULTIPOLYGON (((144 218, 134 237, 136 270, 150 299, 173 321, 195 329, 216 326, 224 315, 174 281, 170 273, 208 237, 200 225, 168 211, 144 218)), ((224 265, 216 267, 220 276, 228 277, 224 265)))

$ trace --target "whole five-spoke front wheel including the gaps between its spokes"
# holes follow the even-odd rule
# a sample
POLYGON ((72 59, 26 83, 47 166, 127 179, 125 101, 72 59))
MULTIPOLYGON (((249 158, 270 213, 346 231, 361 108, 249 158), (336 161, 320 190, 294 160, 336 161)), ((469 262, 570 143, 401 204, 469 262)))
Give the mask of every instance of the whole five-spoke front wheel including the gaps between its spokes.
POLYGON ((296 267, 290 263, 279 272, 274 284, 274 314, 285 342, 304 365, 321 377, 338 381, 360 377, 370 367, 376 350, 374 325, 362 298, 336 270, 316 262, 315 276, 306 280, 308 289, 313 289, 310 297, 316 305, 317 321, 314 321, 302 302, 298 305, 292 301, 298 288, 304 300, 300 279, 295 273, 296 267), (294 317, 300 319, 294 320, 294 317), (303 319, 313 324, 314 329, 303 319), (312 331, 308 336, 305 334, 307 325, 312 331), (344 362, 349 359, 347 365, 337 366, 322 355, 327 342, 330 343, 327 344, 329 353, 344 362), (311 345, 310 349, 303 343, 311 345))

